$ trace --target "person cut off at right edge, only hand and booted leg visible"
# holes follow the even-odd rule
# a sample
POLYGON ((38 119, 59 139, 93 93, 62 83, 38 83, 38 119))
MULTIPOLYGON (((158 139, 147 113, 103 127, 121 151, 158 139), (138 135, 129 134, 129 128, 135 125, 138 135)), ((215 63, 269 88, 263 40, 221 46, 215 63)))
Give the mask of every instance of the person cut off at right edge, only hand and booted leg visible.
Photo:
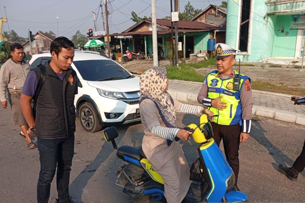
MULTIPOLYGON (((291 101, 294 102, 294 105, 305 105, 305 97, 292 96, 291 101)), ((293 163, 292 167, 286 167, 282 164, 278 165, 280 172, 285 174, 289 180, 296 181, 300 172, 305 168, 305 141, 303 145, 302 152, 296 161, 293 163)))

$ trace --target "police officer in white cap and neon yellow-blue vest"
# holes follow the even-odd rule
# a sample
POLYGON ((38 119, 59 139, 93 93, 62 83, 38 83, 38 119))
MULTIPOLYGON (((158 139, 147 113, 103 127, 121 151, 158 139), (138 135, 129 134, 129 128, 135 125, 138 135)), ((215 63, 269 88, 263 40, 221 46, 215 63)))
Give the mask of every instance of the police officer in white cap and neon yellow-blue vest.
POLYGON ((239 144, 249 138, 252 119, 251 80, 233 69, 236 50, 227 44, 215 44, 217 70, 210 72, 197 96, 199 103, 207 106, 215 117, 212 124, 214 140, 221 139, 224 153, 235 174, 235 186, 239 173, 239 144), (239 80, 239 79, 240 80, 239 80), (235 84, 236 83, 236 84, 235 84))

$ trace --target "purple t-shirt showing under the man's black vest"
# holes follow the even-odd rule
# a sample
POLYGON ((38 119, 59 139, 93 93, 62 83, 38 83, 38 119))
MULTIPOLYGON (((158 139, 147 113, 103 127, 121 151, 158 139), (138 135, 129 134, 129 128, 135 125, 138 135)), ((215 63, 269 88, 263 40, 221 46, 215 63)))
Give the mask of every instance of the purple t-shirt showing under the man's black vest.
MULTIPOLYGON (((56 73, 56 75, 61 80, 63 80, 63 74, 64 73, 56 73)), ((78 93, 77 81, 75 82, 76 82, 75 94, 77 94, 78 93)), ((36 73, 33 70, 30 70, 30 72, 27 74, 27 78, 25 79, 21 93, 27 96, 34 96, 37 85, 38 85, 38 79, 36 73)), ((59 137, 59 138, 66 138, 66 137, 59 137)), ((56 139, 56 138, 43 138, 43 139, 56 139)))

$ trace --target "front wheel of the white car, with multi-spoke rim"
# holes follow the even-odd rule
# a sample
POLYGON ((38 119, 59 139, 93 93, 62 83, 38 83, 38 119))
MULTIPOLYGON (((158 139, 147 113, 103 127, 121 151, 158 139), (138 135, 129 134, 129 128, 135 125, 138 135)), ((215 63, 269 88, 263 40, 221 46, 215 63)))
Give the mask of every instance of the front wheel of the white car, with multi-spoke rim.
POLYGON ((86 102, 81 105, 78 112, 79 121, 81 127, 87 132, 94 133, 102 129, 102 125, 99 124, 99 118, 97 112, 91 103, 86 102))

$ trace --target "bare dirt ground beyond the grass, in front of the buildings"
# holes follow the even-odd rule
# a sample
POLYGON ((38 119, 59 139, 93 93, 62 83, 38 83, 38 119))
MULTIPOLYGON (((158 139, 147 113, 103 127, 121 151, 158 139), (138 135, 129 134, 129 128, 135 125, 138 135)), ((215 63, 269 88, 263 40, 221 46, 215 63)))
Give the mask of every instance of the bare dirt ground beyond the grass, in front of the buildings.
MULTIPOLYGON (((187 63, 189 61, 186 61, 187 63)), ((135 60, 128 61, 126 63, 120 63, 122 66, 127 68, 128 71, 137 72, 142 69, 152 68, 152 60, 144 61, 144 60, 135 60)), ((159 66, 168 66, 170 65, 170 61, 161 60, 159 61, 159 66)), ((208 74, 209 72, 216 69, 216 66, 209 66, 199 68, 196 71, 203 75, 208 74)), ((238 63, 235 63, 235 70, 239 70, 238 63)), ((274 65, 274 64, 266 64, 266 63, 243 63, 241 62, 241 73, 248 75, 253 81, 266 81, 271 82, 276 85, 286 85, 291 87, 299 87, 305 89, 305 72, 298 71, 298 68, 294 66, 287 65, 274 65), (249 66, 249 65, 254 66, 249 66), (277 67, 274 67, 277 66, 277 67)))

